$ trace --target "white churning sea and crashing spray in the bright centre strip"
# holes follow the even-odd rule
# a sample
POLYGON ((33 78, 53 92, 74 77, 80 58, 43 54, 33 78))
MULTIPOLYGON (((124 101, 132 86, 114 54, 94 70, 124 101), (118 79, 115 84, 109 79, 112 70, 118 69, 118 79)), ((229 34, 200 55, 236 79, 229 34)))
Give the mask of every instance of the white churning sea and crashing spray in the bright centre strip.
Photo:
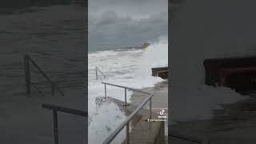
MULTIPOLYGON (((89 95, 89 142, 101 143, 126 118, 114 103, 104 103, 97 107, 97 97, 104 97, 104 85, 110 82, 135 89, 152 87, 162 78, 152 77, 150 70, 154 66, 167 65, 167 42, 158 42, 146 50, 106 50, 88 54, 88 95, 89 95), (106 75, 106 79, 95 79, 95 66, 106 75), (118 118, 116 118, 118 117, 118 118), (106 127, 107 126, 107 127, 106 127)), ((124 101, 124 90, 114 86, 106 86, 107 96, 124 101)), ((130 102, 132 91, 127 91, 130 102)), ((114 143, 123 140, 123 131, 118 134, 114 143)))

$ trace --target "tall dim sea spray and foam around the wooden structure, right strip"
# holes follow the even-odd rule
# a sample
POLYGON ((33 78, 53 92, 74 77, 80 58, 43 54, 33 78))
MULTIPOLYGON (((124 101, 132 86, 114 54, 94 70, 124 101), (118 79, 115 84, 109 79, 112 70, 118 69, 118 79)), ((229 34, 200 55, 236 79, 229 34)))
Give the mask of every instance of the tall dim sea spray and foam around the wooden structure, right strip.
MULTIPOLYGON (((200 13, 200 10, 194 10, 197 4, 191 2, 182 6, 177 17, 172 20, 169 106, 170 118, 175 121, 209 119, 213 117, 212 110, 219 108, 219 104, 248 98, 230 88, 205 86, 203 61, 206 58, 243 57, 255 54, 255 50, 248 45, 251 43, 251 36, 242 38, 246 42, 238 44, 239 34, 246 34, 238 32, 239 26, 234 26, 230 33, 231 27, 226 24, 226 20, 230 19, 222 18, 225 21, 223 22, 219 21, 219 17, 205 17, 207 13, 213 14, 208 11, 211 9, 202 7, 206 13, 200 13), (190 17, 191 15, 193 17, 190 17)), ((210 8, 210 4, 207 3, 207 6, 210 8)), ((224 7, 223 11, 226 11, 224 7)), ((218 10, 219 16, 222 12, 218 10)), ((236 18, 232 24, 235 21, 236 18)))

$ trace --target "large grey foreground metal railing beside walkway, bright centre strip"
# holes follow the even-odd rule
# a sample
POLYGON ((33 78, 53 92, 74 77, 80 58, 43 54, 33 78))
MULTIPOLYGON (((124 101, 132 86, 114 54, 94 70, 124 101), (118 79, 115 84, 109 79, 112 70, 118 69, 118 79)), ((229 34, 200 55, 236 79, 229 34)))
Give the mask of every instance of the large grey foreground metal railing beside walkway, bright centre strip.
MULTIPOLYGON (((107 82, 102 82, 102 84, 104 84, 105 86, 105 98, 106 98, 106 85, 109 86, 116 86, 116 87, 120 87, 120 88, 124 88, 125 89, 125 105, 124 106, 128 106, 127 102, 126 102, 126 90, 134 90, 143 94, 150 94, 150 96, 148 98, 146 98, 138 107, 136 110, 134 110, 134 112, 132 114, 130 114, 126 120, 124 122, 122 122, 122 124, 120 126, 118 126, 118 128, 116 130, 114 130, 114 132, 112 134, 110 134, 110 136, 108 138, 106 138, 106 140, 103 142, 103 144, 109 144, 110 142, 113 141, 113 139, 120 133, 120 131, 126 126, 126 143, 129 144, 129 126, 130 126, 130 120, 132 118, 134 118, 135 114, 138 114, 138 111, 142 109, 143 106, 146 105, 147 102, 150 101, 150 119, 152 118, 152 97, 154 96, 153 93, 148 93, 146 91, 142 91, 142 90, 136 90, 130 87, 126 87, 126 86, 119 86, 119 85, 115 85, 115 84, 111 84, 111 83, 107 83, 107 82)), ((150 122, 150 121, 148 121, 150 122)))

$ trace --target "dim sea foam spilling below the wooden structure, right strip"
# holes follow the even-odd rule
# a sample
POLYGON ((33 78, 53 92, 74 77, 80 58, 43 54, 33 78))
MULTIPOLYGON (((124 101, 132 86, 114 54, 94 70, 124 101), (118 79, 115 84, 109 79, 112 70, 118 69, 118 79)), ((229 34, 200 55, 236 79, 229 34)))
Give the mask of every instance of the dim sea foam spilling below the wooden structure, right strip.
POLYGON ((197 89, 173 88, 171 91, 171 120, 190 122, 213 118, 212 110, 222 109, 219 104, 229 104, 248 98, 226 87, 201 85, 197 89))

